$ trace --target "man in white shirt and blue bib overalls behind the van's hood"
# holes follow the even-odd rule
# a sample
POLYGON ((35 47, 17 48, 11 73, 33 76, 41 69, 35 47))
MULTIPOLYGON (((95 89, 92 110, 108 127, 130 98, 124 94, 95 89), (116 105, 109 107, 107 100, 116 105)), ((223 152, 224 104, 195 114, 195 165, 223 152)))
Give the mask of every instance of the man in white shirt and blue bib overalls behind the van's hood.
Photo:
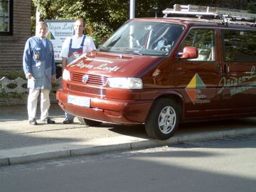
MULTIPOLYGON (((82 19, 75 20, 74 30, 75 35, 65 39, 60 52, 63 70, 68 63, 71 63, 73 60, 82 55, 82 53, 90 52, 96 49, 92 38, 90 36, 83 35, 83 32, 85 31, 85 21, 82 19)), ((74 118, 75 116, 65 112, 65 120, 63 123, 73 123, 74 118)))

